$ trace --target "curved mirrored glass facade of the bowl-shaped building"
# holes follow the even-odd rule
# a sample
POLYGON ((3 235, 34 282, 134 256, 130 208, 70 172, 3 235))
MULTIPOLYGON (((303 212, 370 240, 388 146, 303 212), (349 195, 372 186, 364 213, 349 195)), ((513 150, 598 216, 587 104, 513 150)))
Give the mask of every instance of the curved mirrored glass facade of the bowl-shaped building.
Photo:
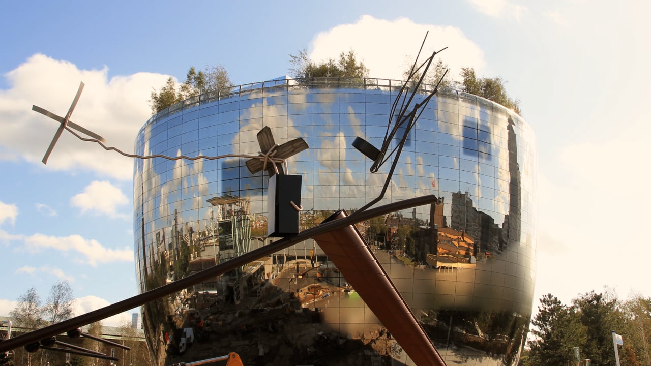
MULTIPOLYGON (((302 137, 299 225, 378 196, 389 167, 351 143, 380 146, 400 82, 268 81, 204 94, 152 117, 138 154, 256 154, 257 132, 302 137)), ((415 102, 424 98, 417 95, 415 102)), ((439 92, 411 130, 383 203, 434 194, 430 206, 357 228, 450 364, 515 365, 533 302, 536 155, 527 124, 473 95, 439 92)), ((268 174, 244 158, 137 160, 139 290, 186 277, 275 240, 266 237, 268 174)), ((143 307, 159 364, 235 351, 250 365, 409 364, 312 240, 143 307), (173 359, 174 358, 174 359, 173 359)))

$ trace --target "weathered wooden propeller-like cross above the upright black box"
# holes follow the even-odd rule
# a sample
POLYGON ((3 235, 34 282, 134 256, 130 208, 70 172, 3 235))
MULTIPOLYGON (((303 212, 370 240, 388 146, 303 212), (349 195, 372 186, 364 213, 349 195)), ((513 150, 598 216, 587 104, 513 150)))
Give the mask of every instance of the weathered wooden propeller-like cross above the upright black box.
MULTIPOLYGON (((275 159, 286 159, 292 155, 298 154, 299 152, 308 148, 305 140, 299 137, 298 139, 293 139, 292 141, 287 141, 283 145, 276 145, 273 141, 273 134, 271 134, 271 128, 264 127, 257 134, 258 143, 260 144, 260 156, 268 155, 270 158, 275 159)), ((267 163, 267 172, 269 176, 273 176, 276 170, 273 167, 273 162, 267 163)), ((279 174, 284 174, 283 164, 275 163, 278 169, 279 174)), ((264 169, 265 162, 260 158, 249 159, 246 162, 246 166, 249 168, 251 174, 258 173, 264 169)))

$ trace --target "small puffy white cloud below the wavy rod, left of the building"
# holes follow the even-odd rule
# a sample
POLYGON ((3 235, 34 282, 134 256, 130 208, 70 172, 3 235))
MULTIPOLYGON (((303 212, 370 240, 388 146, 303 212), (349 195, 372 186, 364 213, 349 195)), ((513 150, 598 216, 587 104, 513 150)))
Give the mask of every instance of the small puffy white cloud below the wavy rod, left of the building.
POLYGON ((70 199, 72 206, 80 208, 81 213, 92 212, 104 214, 110 218, 130 218, 127 214, 120 214, 118 206, 129 203, 129 199, 120 191, 120 188, 113 186, 107 181, 95 180, 90 182, 83 193, 79 193, 70 199))

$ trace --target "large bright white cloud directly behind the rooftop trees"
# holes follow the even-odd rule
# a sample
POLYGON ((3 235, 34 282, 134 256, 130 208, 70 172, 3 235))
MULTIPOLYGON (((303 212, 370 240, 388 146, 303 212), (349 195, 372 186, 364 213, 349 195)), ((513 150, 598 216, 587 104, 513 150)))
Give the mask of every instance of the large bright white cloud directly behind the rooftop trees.
POLYGON ((402 72, 413 63, 408 62, 409 58, 416 57, 427 31, 421 61, 432 51, 449 47, 441 53, 441 58, 453 76, 466 66, 482 70, 484 52, 457 27, 417 24, 407 18, 381 20, 370 15, 361 16, 357 23, 337 25, 316 35, 310 57, 326 60, 353 49, 369 68, 370 77, 402 79, 402 72))

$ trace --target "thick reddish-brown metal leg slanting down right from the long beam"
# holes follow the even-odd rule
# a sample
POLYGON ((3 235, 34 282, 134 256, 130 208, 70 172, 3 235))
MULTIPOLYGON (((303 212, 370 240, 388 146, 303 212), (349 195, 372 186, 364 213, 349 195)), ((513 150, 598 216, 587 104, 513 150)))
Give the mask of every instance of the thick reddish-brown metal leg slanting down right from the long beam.
MULTIPOLYGON (((326 221, 346 216, 342 210, 326 221)), ((412 361, 417 365, 445 365, 430 337, 353 225, 313 238, 412 361)))

